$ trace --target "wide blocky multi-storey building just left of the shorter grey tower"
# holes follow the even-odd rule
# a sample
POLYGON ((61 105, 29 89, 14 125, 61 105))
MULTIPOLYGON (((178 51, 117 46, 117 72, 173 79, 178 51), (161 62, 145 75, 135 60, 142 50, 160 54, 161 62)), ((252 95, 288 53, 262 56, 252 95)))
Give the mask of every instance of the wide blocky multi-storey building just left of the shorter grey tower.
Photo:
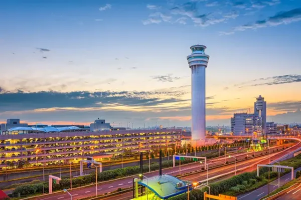
POLYGON ((231 132, 233 135, 261 134, 261 117, 257 114, 234 113, 231 117, 231 132))

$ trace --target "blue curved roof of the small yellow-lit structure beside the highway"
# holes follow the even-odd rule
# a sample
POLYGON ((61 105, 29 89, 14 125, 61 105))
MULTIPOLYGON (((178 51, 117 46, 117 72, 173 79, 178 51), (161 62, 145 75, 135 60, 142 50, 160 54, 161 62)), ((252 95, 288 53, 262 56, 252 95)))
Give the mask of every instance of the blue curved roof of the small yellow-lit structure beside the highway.
POLYGON ((186 181, 167 174, 145 178, 139 180, 138 183, 152 190, 161 199, 167 199, 187 191, 186 181), (178 182, 182 182, 183 185, 178 187, 178 182))

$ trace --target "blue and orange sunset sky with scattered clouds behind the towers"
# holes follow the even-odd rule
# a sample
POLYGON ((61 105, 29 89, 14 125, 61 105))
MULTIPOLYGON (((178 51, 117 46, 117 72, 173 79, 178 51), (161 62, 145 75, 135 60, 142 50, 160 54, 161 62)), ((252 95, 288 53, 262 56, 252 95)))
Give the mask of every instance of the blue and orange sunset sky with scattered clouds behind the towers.
POLYGON ((190 126, 204 44, 206 124, 267 101, 301 123, 300 0, 3 0, 0 122, 190 126))

